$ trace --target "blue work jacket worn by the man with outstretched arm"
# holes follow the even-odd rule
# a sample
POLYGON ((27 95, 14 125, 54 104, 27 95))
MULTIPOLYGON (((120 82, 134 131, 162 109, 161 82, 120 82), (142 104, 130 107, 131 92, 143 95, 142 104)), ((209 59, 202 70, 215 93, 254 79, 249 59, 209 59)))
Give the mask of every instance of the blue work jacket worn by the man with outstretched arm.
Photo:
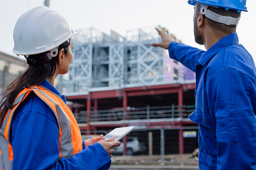
POLYGON ((172 42, 169 56, 196 73, 200 169, 256 168, 255 65, 236 33, 203 51, 172 42))

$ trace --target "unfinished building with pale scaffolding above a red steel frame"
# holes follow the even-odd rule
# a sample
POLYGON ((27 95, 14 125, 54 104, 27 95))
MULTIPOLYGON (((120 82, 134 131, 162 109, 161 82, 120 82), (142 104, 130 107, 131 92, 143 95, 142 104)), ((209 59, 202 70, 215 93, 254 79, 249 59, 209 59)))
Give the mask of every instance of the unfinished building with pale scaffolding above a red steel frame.
POLYGON ((168 50, 150 46, 161 42, 154 27, 127 31, 125 37, 94 28, 78 32, 69 72, 59 77, 57 88, 82 133, 134 125, 129 135, 146 146, 153 133, 154 154, 198 147, 198 125, 188 118, 195 108, 195 73, 170 59, 168 50))

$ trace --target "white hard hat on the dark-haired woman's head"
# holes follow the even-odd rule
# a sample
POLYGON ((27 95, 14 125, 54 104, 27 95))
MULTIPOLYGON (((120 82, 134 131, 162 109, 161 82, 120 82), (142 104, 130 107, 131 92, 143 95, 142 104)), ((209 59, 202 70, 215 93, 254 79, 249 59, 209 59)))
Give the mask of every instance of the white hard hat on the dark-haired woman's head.
POLYGON ((15 25, 13 53, 18 56, 52 53, 76 34, 58 12, 45 6, 35 7, 24 13, 15 25))

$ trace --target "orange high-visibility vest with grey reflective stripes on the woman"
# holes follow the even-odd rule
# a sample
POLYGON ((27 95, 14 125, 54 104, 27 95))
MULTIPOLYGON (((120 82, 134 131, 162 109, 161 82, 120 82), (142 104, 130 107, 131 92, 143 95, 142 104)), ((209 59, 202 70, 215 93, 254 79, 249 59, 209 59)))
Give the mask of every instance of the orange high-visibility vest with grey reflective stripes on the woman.
MULTIPOLYGON (((3 125, 0 129, 0 169, 13 168, 13 147, 10 144, 10 127, 13 114, 21 102, 30 92, 34 92, 43 100, 55 113, 59 126, 59 158, 70 158, 75 153, 82 150, 82 140, 80 129, 75 117, 65 102, 56 94, 42 86, 34 86, 24 89, 15 99, 15 107, 9 109, 3 125)), ((58 160, 57 159, 57 160, 58 160)))

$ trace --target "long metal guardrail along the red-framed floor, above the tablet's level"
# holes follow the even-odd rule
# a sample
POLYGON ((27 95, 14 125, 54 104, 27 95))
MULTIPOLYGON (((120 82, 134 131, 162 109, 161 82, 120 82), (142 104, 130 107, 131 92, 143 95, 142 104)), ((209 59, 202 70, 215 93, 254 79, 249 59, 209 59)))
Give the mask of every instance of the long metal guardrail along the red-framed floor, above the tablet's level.
MULTIPOLYGON (((137 119, 162 119, 162 118, 180 118, 188 117, 195 109, 195 105, 170 105, 150 107, 127 107, 113 108, 109 110, 91 110, 90 122, 98 121, 119 121, 119 120, 137 120, 137 119)), ((87 123, 88 112, 81 111, 74 113, 77 123, 87 123)))

